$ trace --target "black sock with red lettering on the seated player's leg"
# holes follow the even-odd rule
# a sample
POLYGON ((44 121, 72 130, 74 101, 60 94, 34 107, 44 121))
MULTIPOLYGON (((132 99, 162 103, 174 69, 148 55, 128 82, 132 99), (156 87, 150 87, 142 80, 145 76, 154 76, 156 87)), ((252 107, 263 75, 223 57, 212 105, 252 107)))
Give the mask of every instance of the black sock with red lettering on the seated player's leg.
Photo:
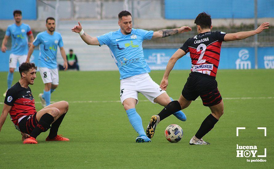
POLYGON ((41 132, 46 132, 50 128, 50 124, 54 121, 53 116, 51 116, 49 113, 45 113, 39 120, 36 127, 33 129, 33 131, 30 133, 30 137, 36 137, 41 132))

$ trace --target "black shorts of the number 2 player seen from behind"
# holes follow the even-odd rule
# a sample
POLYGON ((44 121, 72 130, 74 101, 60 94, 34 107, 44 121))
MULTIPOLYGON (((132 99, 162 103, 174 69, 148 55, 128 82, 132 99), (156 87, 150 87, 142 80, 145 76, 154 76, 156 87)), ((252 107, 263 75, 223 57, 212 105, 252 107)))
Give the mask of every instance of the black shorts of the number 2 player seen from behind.
POLYGON ((198 72, 189 73, 182 95, 187 100, 196 100, 200 96, 204 106, 214 106, 222 101, 215 77, 198 72))

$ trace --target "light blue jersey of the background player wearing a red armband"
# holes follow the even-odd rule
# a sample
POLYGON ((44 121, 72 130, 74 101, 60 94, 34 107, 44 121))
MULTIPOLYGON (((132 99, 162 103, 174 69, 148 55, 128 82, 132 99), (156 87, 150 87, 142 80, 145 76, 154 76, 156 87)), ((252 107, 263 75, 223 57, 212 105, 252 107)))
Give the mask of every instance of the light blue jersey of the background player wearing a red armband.
POLYGON ((30 26, 21 24, 17 26, 15 23, 8 26, 6 35, 11 36, 11 53, 15 55, 28 54, 28 35, 31 35, 30 26))

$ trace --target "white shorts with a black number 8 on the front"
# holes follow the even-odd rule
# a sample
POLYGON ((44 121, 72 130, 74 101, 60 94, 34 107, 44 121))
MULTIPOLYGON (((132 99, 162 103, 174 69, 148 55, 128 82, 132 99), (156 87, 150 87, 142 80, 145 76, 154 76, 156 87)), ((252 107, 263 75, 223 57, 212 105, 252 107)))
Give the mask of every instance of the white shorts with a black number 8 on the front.
POLYGON ((58 69, 49 69, 39 67, 39 72, 42 77, 43 83, 52 83, 53 85, 59 84, 58 69))

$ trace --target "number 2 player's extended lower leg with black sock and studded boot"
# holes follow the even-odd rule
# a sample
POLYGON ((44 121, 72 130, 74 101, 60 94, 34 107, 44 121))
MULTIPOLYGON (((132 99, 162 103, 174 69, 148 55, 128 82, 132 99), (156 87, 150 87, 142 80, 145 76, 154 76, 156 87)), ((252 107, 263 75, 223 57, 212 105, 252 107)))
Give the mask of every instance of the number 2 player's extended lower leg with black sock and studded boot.
POLYGON ((147 126, 147 137, 152 138, 155 134, 155 129, 157 124, 161 121, 170 116, 171 114, 183 110, 187 108, 191 104, 191 101, 186 100, 182 95, 180 96, 179 100, 171 101, 167 104, 165 108, 158 114, 153 115, 151 120, 147 126))

